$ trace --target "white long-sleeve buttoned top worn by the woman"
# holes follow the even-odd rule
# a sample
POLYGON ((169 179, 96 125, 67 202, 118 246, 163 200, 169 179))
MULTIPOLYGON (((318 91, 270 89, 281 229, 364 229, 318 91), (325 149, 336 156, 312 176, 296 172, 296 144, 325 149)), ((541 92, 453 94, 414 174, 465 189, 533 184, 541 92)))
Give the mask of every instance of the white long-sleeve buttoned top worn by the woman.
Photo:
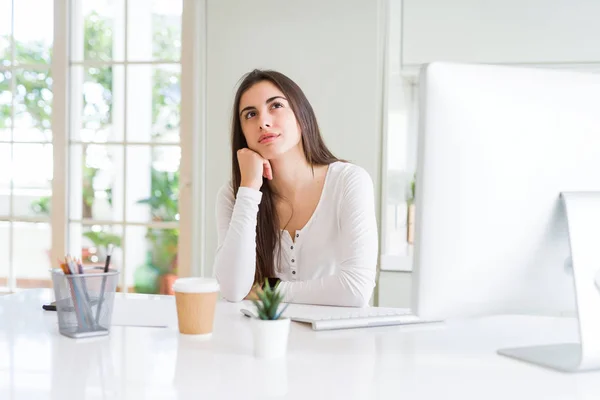
MULTIPOLYGON (((262 192, 231 184, 217 196, 218 248, 214 272, 222 296, 241 301, 254 284, 256 224, 262 192)), ((366 306, 375 286, 377 222, 373 181, 354 164, 329 165, 323 191, 295 241, 281 234, 281 258, 274 252, 284 301, 366 306)))

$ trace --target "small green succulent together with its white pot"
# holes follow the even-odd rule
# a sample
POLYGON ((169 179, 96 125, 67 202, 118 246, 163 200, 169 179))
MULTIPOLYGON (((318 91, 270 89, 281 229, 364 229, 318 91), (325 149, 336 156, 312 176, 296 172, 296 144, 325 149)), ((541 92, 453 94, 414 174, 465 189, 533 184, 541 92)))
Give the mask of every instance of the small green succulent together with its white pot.
POLYGON ((264 288, 256 290, 258 299, 252 300, 258 314, 257 318, 251 320, 254 355, 259 358, 279 358, 287 351, 290 319, 282 317, 282 314, 288 304, 280 309, 283 294, 278 286, 271 288, 266 280, 264 288))

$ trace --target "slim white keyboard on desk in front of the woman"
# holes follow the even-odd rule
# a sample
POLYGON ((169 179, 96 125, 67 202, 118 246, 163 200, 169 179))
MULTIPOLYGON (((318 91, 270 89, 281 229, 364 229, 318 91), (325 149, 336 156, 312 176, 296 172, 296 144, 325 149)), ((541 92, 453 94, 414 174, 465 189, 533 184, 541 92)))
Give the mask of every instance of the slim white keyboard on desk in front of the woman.
POLYGON ((312 324, 313 330, 316 331, 440 322, 423 320, 412 315, 408 308, 350 308, 290 304, 283 315, 292 321, 312 324))

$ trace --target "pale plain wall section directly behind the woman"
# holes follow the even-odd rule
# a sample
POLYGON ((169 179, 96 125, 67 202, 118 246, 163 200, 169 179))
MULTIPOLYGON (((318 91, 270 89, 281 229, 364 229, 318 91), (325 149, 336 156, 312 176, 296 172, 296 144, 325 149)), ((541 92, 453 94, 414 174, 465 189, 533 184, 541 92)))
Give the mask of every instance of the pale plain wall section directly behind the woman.
POLYGON ((205 274, 217 245, 215 196, 231 176, 230 118, 244 73, 269 68, 295 80, 330 149, 364 167, 379 187, 380 8, 375 0, 207 1, 205 274))

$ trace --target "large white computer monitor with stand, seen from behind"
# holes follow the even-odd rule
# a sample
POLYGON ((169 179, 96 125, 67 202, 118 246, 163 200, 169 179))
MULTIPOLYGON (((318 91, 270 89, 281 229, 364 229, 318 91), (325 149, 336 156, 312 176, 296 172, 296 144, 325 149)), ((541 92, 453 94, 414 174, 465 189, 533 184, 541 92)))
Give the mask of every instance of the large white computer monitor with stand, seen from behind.
POLYGON ((414 312, 578 316, 585 354, 503 354, 600 367, 600 75, 431 63, 419 107, 414 312))

